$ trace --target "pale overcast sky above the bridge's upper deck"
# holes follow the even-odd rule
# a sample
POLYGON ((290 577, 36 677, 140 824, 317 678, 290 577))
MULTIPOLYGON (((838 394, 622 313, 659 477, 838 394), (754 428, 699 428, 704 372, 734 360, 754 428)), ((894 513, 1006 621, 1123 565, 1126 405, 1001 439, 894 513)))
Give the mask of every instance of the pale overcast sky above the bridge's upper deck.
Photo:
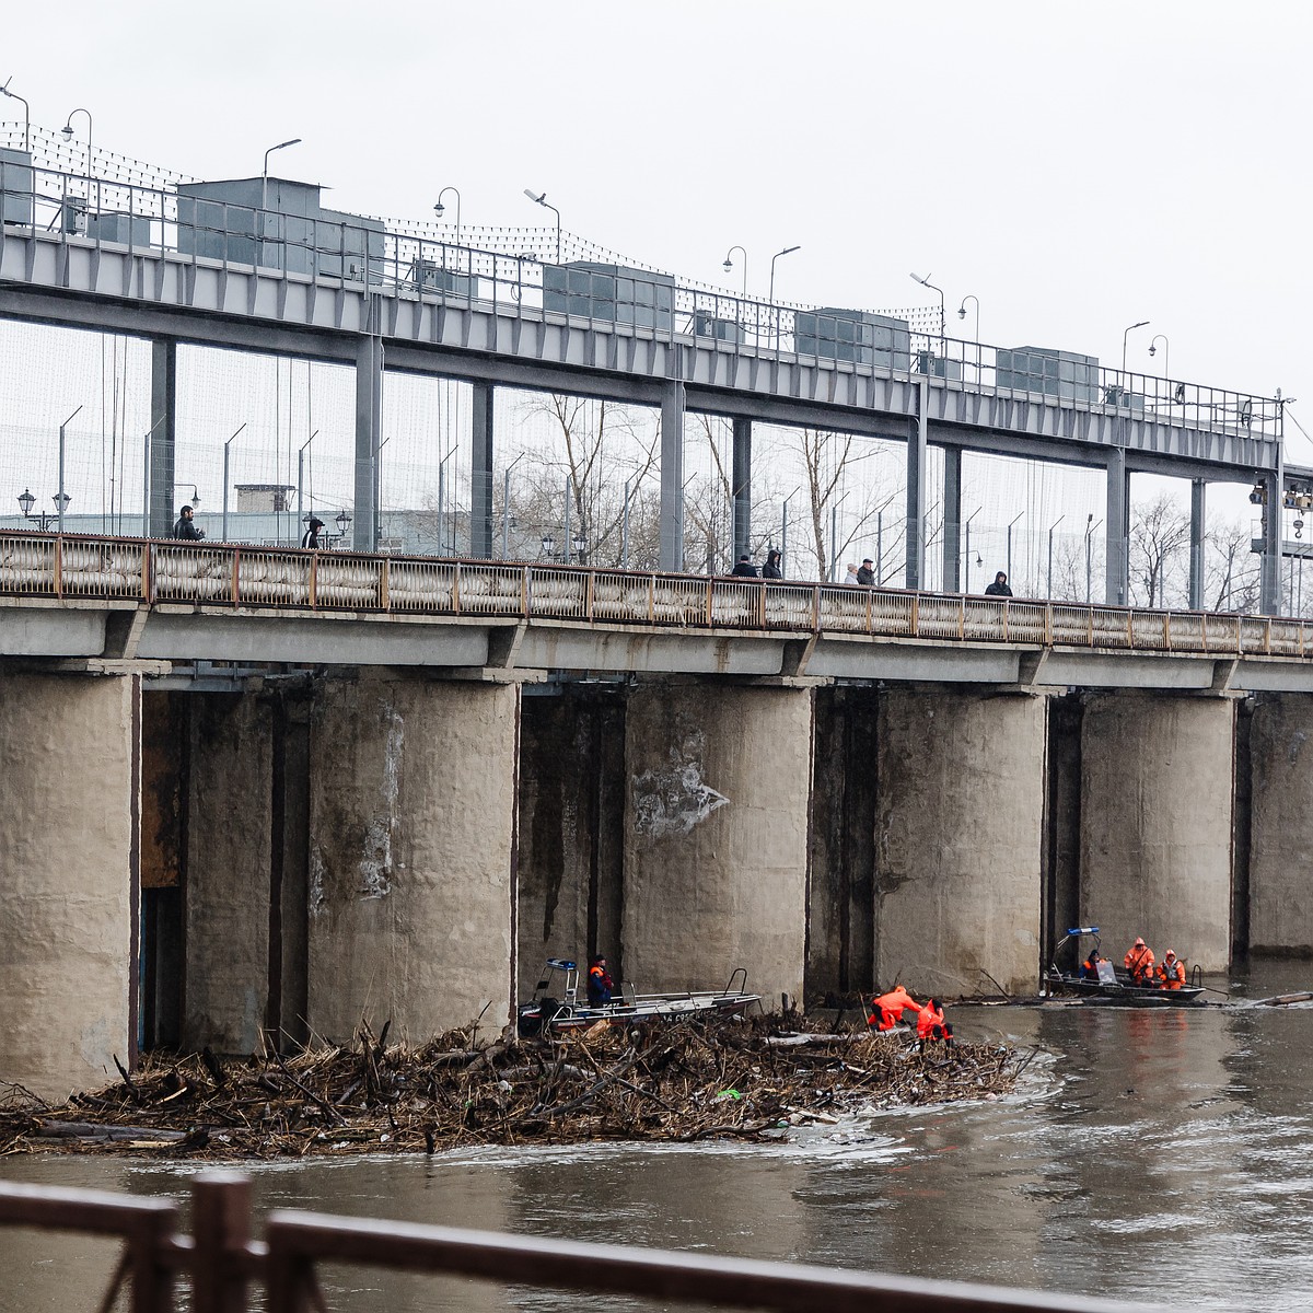
MULTIPOLYGON (((33 123, 200 177, 277 171, 353 211, 550 219, 688 278, 907 307, 949 332, 1174 378, 1313 387, 1313 18, 1295 4, 558 3, 11 7, 33 123), (84 118, 75 129, 81 135, 84 118), (448 197, 450 201, 450 197, 448 197)), ((21 113, 0 101, 0 118, 21 113)), ((1313 394, 1293 415, 1313 431, 1313 394)), ((1313 445, 1287 427, 1287 458, 1313 445)))

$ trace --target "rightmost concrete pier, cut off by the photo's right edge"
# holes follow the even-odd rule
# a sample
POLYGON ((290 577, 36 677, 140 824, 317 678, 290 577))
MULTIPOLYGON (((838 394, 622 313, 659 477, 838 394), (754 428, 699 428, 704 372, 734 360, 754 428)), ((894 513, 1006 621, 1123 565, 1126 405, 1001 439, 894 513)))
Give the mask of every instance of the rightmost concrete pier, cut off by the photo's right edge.
POLYGON ((1259 699, 1249 748, 1249 947, 1313 956, 1313 697, 1259 699))

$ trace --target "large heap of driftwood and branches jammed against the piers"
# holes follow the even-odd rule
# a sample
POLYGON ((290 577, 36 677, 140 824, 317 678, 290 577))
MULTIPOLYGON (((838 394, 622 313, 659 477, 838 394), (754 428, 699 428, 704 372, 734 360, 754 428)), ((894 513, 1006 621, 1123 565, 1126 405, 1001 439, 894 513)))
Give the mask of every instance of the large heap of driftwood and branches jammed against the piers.
POLYGON ((0 1086, 0 1154, 185 1159, 414 1153, 586 1141, 769 1141, 844 1112, 1007 1094, 1029 1061, 999 1044, 924 1049, 906 1031, 797 1015, 609 1025, 545 1039, 448 1031, 219 1060, 148 1054, 53 1107, 0 1086))

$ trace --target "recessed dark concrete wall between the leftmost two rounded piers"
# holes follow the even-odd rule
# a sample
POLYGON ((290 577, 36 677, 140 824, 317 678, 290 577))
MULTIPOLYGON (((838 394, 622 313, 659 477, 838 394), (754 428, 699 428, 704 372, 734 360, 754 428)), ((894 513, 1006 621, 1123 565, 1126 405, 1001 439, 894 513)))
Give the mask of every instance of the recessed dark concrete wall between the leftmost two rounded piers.
POLYGON ((190 735, 183 1043, 249 1053, 269 1006, 270 704, 194 695, 190 735))

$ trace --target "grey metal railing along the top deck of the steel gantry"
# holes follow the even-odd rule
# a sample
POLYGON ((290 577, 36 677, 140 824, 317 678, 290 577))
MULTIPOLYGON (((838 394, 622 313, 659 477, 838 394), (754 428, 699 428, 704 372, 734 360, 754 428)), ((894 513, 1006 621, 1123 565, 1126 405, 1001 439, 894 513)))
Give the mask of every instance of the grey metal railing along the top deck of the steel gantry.
MULTIPOLYGON (((763 302, 651 269, 597 260, 562 264, 537 251, 461 246, 421 228, 406 231, 395 221, 389 227, 355 215, 302 218, 189 186, 147 188, 12 160, 0 160, 0 207, 14 231, 30 226, 70 243, 150 251, 197 265, 259 268, 498 316, 920 376, 935 387, 1204 432, 1272 437, 1281 427, 1281 404, 1272 398, 1104 369, 1075 353, 964 341, 949 337, 943 324, 934 332, 857 309, 763 302)), ((0 225, 0 243, 7 225, 0 225)))

